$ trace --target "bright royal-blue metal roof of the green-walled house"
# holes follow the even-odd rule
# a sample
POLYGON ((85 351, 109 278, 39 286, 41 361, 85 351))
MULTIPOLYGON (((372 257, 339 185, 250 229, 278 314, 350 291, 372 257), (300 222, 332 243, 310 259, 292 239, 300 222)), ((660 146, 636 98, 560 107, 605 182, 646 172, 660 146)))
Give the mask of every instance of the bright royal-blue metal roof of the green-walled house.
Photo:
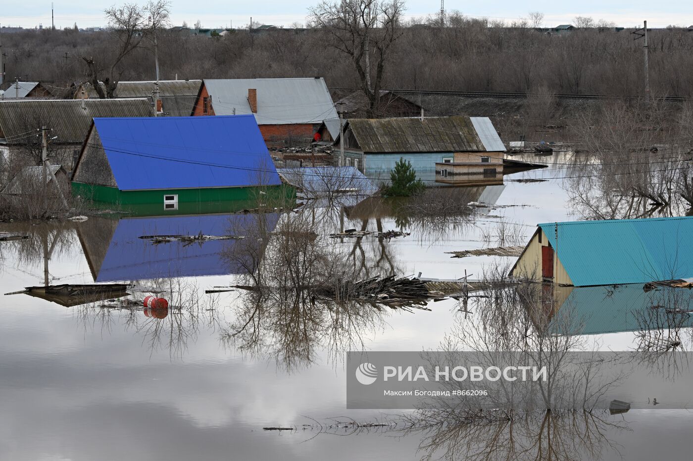
POLYGON ((120 190, 278 185, 252 115, 94 118, 120 190))

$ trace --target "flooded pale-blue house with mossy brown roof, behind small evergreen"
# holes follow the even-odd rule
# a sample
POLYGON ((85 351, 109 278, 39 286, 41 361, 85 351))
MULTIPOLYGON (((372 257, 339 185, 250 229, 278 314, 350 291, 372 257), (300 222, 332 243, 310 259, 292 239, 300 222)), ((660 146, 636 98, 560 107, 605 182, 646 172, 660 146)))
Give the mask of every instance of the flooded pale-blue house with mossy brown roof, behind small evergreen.
POLYGON ((344 126, 346 165, 376 181, 389 181, 399 159, 428 184, 469 174, 502 178, 504 155, 488 117, 353 118, 344 126))

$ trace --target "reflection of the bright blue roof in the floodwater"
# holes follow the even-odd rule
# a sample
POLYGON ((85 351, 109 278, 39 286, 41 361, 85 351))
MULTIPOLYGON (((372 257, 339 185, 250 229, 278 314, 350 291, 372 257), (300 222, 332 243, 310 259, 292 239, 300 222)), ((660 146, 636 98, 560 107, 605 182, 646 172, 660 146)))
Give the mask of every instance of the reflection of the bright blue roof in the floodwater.
MULTIPOLYGON (((279 215, 261 215, 267 230, 277 226, 279 215)), ((142 235, 237 235, 256 228, 258 215, 196 215, 150 218, 124 218, 109 242, 106 255, 96 273, 96 282, 150 280, 169 277, 228 275, 245 273, 252 261, 225 259, 222 255, 244 240, 209 240, 202 244, 182 242, 153 244, 142 235)), ((252 239, 252 244, 256 239, 252 239)), ((257 242, 258 245, 263 243, 257 242)), ((248 256, 250 258, 250 255, 248 256)))

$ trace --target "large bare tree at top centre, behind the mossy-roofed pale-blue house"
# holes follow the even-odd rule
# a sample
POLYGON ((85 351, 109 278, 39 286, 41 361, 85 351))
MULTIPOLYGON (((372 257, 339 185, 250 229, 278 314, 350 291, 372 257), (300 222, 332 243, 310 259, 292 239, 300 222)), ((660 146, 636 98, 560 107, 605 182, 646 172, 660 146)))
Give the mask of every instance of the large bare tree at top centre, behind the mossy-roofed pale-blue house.
POLYGON ((403 0, 342 0, 322 1, 309 10, 313 26, 328 31, 331 46, 351 57, 371 113, 378 111, 389 50, 403 33, 404 8, 403 0), (375 58, 374 76, 371 53, 375 58))

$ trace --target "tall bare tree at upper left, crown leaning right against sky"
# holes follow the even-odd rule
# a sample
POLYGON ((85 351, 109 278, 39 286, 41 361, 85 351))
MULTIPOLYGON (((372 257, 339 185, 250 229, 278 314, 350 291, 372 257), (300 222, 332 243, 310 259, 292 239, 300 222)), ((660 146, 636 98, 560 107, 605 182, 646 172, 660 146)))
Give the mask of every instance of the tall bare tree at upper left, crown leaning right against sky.
POLYGON ((105 14, 115 38, 111 53, 100 58, 80 54, 87 64, 89 82, 101 99, 114 98, 123 73, 123 59, 143 47, 146 40, 155 40, 157 29, 168 26, 170 3, 166 0, 150 0, 145 6, 125 3, 107 8, 105 14))

